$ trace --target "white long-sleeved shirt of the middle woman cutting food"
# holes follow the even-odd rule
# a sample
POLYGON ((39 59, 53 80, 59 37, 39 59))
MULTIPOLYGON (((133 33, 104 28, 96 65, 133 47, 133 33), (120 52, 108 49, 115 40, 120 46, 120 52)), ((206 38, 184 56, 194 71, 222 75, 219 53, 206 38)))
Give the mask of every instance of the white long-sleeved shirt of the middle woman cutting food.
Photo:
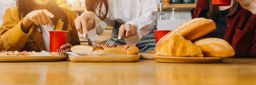
MULTIPOLYGON (((136 45, 157 26, 157 0, 108 0, 108 4, 109 10, 105 21, 100 20, 96 15, 94 17, 96 27, 88 31, 92 41, 95 41, 96 34, 102 34, 107 25, 115 26, 118 22, 137 26, 137 35, 125 39, 128 45, 136 45)), ((104 10, 105 6, 102 7, 103 13, 104 10)), ((96 13, 98 11, 96 10, 96 13)))

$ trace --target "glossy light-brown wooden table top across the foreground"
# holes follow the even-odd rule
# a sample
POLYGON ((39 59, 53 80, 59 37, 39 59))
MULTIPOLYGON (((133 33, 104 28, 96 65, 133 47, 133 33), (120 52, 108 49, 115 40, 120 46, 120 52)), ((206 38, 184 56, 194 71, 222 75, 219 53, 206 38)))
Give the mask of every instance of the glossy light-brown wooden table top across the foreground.
POLYGON ((256 85, 256 59, 217 64, 0 62, 0 85, 256 85))

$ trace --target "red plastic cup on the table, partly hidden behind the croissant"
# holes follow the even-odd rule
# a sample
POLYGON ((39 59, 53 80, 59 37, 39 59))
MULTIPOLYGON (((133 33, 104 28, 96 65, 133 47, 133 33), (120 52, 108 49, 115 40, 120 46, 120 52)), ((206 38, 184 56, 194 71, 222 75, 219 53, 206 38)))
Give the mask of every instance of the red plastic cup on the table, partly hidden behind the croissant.
POLYGON ((170 31, 169 30, 155 30, 154 34, 156 37, 156 43, 166 34, 168 34, 170 31))

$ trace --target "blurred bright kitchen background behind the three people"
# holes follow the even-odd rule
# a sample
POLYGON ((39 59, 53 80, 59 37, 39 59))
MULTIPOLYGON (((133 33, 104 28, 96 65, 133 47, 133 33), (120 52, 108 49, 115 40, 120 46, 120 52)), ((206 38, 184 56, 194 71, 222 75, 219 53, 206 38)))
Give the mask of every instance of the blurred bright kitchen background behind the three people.
MULTIPOLYGON (((85 7, 85 0, 57 0, 58 6, 68 8, 74 11, 77 15, 80 15, 85 7)), ((158 3, 158 30, 172 30, 181 23, 191 20, 192 13, 196 7, 197 0, 162 0, 162 10, 160 10, 160 0, 158 3), (175 9, 173 9, 175 8, 175 9), (174 10, 174 11, 172 11, 174 10), (162 18, 160 19, 160 14, 162 18)), ((3 14, 6 8, 16 6, 15 0, 0 0, 0 23, 3 22, 3 14)), ((96 37, 96 41, 104 41, 110 38, 113 27, 107 26, 102 35, 96 37)), ((81 42, 87 42, 87 40, 81 40, 81 42)))

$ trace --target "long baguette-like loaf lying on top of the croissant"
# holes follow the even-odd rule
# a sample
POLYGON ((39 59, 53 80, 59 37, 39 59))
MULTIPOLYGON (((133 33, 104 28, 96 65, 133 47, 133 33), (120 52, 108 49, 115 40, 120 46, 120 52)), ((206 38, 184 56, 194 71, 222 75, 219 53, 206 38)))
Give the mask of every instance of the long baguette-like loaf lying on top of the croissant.
POLYGON ((195 18, 189 20, 185 23, 182 23, 180 26, 175 28, 173 31, 169 32, 165 36, 163 36, 158 42, 161 44, 163 41, 168 40, 170 37, 174 35, 180 35, 184 37, 186 40, 195 40, 199 37, 202 37, 216 29, 215 22, 213 20, 205 19, 205 18, 195 18))

